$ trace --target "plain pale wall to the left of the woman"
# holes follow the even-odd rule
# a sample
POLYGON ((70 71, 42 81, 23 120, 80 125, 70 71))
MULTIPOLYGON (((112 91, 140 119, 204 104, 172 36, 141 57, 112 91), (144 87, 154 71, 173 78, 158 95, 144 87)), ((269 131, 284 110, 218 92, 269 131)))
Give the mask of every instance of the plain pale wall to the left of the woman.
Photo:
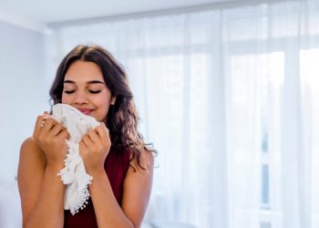
MULTIPOLYGON (((0 21, 0 227, 21 227, 15 181, 19 149, 48 109, 46 36, 0 21), (47 90, 47 89, 46 89, 47 90)), ((32 177, 30 177, 32 178, 32 177)))

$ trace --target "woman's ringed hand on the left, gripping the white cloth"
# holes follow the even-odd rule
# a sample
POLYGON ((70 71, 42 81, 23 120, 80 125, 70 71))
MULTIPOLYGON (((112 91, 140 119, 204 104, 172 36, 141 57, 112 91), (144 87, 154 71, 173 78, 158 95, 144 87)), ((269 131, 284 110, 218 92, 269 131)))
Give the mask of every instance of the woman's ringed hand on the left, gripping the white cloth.
POLYGON ((47 164, 62 168, 67 155, 67 129, 45 112, 36 119, 33 137, 37 146, 46 154, 47 164))

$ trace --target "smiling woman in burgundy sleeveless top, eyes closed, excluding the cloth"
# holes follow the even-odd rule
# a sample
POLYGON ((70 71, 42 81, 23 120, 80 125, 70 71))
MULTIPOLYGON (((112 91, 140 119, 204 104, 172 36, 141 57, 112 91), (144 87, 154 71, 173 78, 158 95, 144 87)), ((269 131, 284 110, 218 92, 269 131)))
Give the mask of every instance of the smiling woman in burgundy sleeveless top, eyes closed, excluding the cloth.
POLYGON ((75 215, 64 211, 65 185, 57 172, 64 168, 69 135, 45 112, 20 151, 23 227, 139 227, 149 202, 155 150, 139 134, 122 67, 102 47, 75 47, 57 68, 50 96, 54 104, 68 104, 102 122, 79 142, 93 176, 91 198, 75 215))

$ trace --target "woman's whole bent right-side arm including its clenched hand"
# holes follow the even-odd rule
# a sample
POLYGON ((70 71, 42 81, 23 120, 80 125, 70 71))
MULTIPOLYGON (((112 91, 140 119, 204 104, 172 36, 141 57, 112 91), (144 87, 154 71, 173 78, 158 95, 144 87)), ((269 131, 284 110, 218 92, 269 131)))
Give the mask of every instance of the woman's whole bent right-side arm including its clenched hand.
POLYGON ((89 191, 98 227, 140 227, 151 191, 153 155, 145 151, 140 156, 141 164, 147 169, 146 171, 140 169, 135 161, 130 162, 131 167, 124 180, 123 199, 120 206, 104 171, 104 161, 109 146, 109 138, 102 125, 96 132, 90 131, 80 142, 80 153, 86 164, 87 173, 93 176, 89 191))

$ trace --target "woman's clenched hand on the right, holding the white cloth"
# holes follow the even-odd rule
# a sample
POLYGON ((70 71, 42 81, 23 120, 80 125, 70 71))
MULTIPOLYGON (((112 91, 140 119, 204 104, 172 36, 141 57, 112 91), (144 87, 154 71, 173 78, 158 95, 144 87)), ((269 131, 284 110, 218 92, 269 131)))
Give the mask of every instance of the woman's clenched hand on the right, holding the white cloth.
POLYGON ((108 156, 111 142, 108 129, 100 123, 94 130, 89 130, 79 142, 79 152, 88 174, 104 171, 104 161, 108 156))

